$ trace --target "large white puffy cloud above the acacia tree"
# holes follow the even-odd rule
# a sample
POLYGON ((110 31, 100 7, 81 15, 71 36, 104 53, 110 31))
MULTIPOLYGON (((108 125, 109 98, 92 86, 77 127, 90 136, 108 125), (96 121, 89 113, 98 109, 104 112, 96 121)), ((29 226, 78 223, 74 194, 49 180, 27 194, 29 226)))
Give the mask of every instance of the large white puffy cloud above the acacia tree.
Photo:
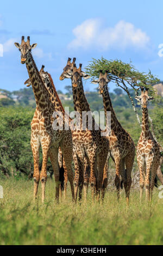
POLYGON ((109 50, 111 48, 126 49, 127 47, 145 48, 149 36, 132 23, 119 21, 114 27, 104 27, 102 19, 85 20, 73 29, 75 39, 68 48, 97 48, 109 50))

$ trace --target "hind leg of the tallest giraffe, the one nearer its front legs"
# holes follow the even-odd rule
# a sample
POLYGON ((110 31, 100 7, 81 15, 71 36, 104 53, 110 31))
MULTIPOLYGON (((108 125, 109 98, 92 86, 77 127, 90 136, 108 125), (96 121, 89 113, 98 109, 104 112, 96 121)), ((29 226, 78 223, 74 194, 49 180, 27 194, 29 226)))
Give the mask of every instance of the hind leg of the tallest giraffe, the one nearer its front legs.
POLYGON ((58 162, 58 148, 49 148, 49 157, 51 159, 51 163, 54 170, 54 177, 55 177, 55 200, 59 201, 59 188, 60 188, 60 181, 59 181, 59 162, 58 162))

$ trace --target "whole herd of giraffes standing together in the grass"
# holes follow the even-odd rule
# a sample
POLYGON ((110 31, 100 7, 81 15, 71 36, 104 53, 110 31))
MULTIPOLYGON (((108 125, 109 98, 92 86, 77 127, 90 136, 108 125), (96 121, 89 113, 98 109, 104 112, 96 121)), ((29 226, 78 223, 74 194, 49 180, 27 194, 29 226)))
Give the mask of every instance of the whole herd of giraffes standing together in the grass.
MULTIPOLYGON (((21 63, 26 63, 29 79, 25 82, 27 86, 32 85, 36 109, 31 123, 31 140, 33 159, 34 159, 34 199, 37 198, 39 181, 42 187, 42 203, 45 200, 45 186, 47 181, 47 161, 50 157, 54 177, 55 177, 55 199, 59 200, 59 190, 65 186, 65 198, 67 180, 70 181, 72 200, 77 202, 82 199, 84 187, 84 199, 87 199, 87 188, 90 184, 92 200, 104 199, 105 189, 108 184, 108 164, 110 157, 115 162, 115 186, 117 189, 117 199, 120 198, 120 176, 122 178, 126 192, 127 204, 129 204, 129 194, 131 187, 131 170, 135 157, 135 145, 129 133, 123 129, 116 118, 108 92, 107 72, 99 72, 97 81, 99 93, 103 97, 105 116, 111 112, 111 129, 107 136, 102 136, 102 130, 96 129, 97 124, 92 117, 92 129, 89 130, 88 118, 86 118, 86 129, 65 129, 73 124, 73 120, 65 112, 59 99, 51 75, 44 71, 44 66, 39 72, 34 62, 31 50, 37 44, 30 45, 30 38, 24 41, 22 36, 21 44, 15 42, 15 46, 21 52, 21 63), (63 129, 53 129, 53 122, 59 121, 58 115, 54 112, 62 113, 63 129), (39 172, 39 148, 42 147, 42 167, 39 172), (74 162, 74 175, 72 170, 74 162), (61 172, 64 167, 64 172, 61 172), (63 179, 64 176, 64 179, 63 179), (79 191, 79 193, 78 193, 79 191)), ((60 75, 60 80, 71 78, 74 111, 79 113, 80 127, 82 127, 83 113, 90 110, 86 100, 82 79, 90 76, 82 71, 82 64, 76 66, 76 58, 68 58, 67 64, 60 75)), ((137 145, 137 163, 140 170, 140 198, 145 183, 146 198, 152 199, 154 179, 156 170, 159 167, 160 151, 159 145, 149 131, 147 102, 151 97, 148 91, 142 89, 141 96, 137 100, 142 102, 142 132, 137 145), (151 180, 149 175, 151 173, 151 180), (145 182, 144 182, 145 175, 145 182), (150 196, 149 196, 150 195, 150 196)), ((74 125, 74 124, 73 124, 74 125)), ((76 127, 77 128, 77 127, 76 127)))

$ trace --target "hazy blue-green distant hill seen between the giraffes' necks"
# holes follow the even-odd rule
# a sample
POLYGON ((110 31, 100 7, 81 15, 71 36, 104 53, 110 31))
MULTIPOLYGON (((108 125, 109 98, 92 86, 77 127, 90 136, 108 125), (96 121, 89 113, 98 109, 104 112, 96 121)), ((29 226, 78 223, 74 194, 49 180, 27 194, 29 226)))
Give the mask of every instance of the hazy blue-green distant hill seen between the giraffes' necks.
MULTIPOLYGON (((71 86, 68 86, 68 92, 66 94, 62 93, 61 90, 58 90, 58 95, 63 106, 70 107, 70 111, 73 111, 73 97, 72 97, 72 89, 71 86), (69 88, 70 87, 70 88, 69 88), (70 90, 71 89, 71 90, 70 90)), ((135 94, 132 90, 130 90, 131 96, 133 96, 133 100, 136 105, 136 100, 134 99, 135 94)), ((102 111, 103 110, 103 100, 102 95, 98 94, 98 92, 85 92, 86 99, 90 104, 90 108, 92 111, 102 111)), ((124 94, 121 89, 115 90, 114 93, 110 92, 110 97, 112 101, 112 105, 116 109, 126 109, 131 108, 131 102, 127 94, 124 94)), ((13 92, 9 92, 7 90, 0 89, 0 106, 30 106, 35 108, 35 97, 32 90, 32 87, 23 88, 20 90, 16 90, 13 92)))

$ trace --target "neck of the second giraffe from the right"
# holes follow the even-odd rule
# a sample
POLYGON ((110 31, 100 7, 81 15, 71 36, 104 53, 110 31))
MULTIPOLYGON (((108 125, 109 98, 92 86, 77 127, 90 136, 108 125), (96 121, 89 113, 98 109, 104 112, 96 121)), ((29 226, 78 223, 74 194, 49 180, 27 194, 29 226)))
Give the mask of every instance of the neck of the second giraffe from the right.
POLYGON ((114 109, 112 107, 111 99, 109 96, 108 88, 105 88, 103 92, 103 104, 104 104, 104 110, 105 110, 105 117, 107 111, 111 112, 111 130, 117 131, 118 128, 122 127, 120 122, 118 121, 116 114, 114 112, 114 109))

